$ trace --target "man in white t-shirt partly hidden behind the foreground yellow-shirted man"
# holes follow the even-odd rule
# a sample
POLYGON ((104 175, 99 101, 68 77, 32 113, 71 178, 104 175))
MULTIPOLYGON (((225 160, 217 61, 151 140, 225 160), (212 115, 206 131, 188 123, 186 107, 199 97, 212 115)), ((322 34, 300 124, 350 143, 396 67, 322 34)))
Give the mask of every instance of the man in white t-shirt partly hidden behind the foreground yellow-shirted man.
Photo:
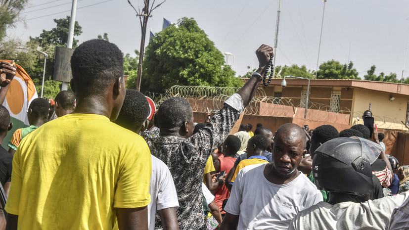
MULTIPOLYGON (((149 115, 149 104, 146 97, 136 90, 127 90, 124 103, 116 124, 129 129, 136 134, 145 130, 145 119, 149 115)), ((173 177, 168 166, 158 158, 151 155, 152 173, 150 177, 149 194, 151 202, 148 207, 149 230, 155 226, 167 230, 179 230, 176 207, 179 207, 173 177), (155 221, 156 211, 159 219, 155 221)))

